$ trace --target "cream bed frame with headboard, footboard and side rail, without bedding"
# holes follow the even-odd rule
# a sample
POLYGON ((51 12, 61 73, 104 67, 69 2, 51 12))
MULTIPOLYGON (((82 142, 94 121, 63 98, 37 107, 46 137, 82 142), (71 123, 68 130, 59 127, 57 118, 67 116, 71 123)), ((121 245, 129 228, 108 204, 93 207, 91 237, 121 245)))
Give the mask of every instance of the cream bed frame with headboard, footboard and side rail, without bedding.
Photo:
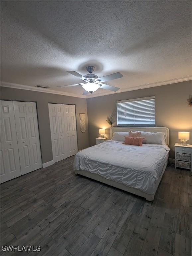
MULTIPOLYGON (((111 127, 110 136, 112 138, 114 132, 129 132, 129 131, 133 131, 133 132, 134 131, 164 132, 166 134, 166 144, 169 145, 169 129, 166 128, 166 127, 115 127, 115 126, 113 126, 113 127, 111 127)), ((167 152, 167 154, 164 157, 164 160, 163 160, 161 166, 159 167, 162 171, 161 171, 161 176, 160 176, 160 178, 158 179, 158 181, 156 183, 155 192, 156 192, 156 190, 158 188, 158 185, 159 185, 159 183, 161 181, 161 178, 162 178, 162 176, 164 174, 164 171, 165 171, 165 169, 167 167, 168 157, 169 157, 169 153, 167 152)), ((115 181, 103 178, 102 176, 100 176, 98 174, 90 173, 90 172, 83 171, 83 170, 75 171, 75 174, 80 174, 80 175, 86 176, 88 178, 91 178, 91 179, 100 181, 102 183, 105 183, 107 185, 113 186, 115 188, 122 189, 124 191, 130 192, 130 193, 138 195, 138 196, 142 196, 147 201, 152 201, 154 199, 155 192, 154 192, 154 194, 147 194, 147 193, 142 192, 139 189, 131 188, 131 187, 126 186, 124 184, 121 184, 121 183, 118 183, 118 182, 115 182, 115 181)))

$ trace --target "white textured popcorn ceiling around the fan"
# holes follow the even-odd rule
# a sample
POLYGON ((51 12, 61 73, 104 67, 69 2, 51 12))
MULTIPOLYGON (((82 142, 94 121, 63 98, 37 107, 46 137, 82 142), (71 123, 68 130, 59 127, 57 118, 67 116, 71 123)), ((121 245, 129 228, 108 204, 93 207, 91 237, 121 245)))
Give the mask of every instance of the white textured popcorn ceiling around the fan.
MULTIPOLYGON (((1 1, 1 81, 82 94, 95 74, 121 89, 192 75, 191 1, 1 1)), ((103 92, 98 89, 98 93, 103 92)))

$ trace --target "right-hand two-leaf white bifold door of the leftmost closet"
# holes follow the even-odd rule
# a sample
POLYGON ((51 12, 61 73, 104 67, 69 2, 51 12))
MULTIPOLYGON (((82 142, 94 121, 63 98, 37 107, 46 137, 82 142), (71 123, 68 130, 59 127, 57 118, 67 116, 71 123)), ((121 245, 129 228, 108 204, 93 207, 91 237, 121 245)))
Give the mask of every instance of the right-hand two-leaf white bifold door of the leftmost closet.
POLYGON ((21 174, 42 167, 35 102, 13 102, 21 174))

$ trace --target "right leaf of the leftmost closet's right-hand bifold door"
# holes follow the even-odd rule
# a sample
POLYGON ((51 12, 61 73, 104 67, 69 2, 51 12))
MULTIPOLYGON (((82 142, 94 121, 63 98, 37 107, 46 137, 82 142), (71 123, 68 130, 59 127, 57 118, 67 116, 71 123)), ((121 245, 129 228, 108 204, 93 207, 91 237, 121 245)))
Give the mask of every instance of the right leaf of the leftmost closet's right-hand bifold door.
POLYGON ((26 112, 29 129, 29 143, 32 153, 32 170, 34 171, 42 167, 36 103, 26 102, 26 112))

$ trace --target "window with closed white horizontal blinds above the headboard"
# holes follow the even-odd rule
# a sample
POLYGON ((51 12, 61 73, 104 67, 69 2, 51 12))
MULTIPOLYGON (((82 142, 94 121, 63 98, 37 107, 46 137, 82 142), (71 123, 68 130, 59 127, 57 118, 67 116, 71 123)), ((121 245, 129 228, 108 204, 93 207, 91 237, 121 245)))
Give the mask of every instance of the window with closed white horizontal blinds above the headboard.
POLYGON ((117 125, 155 126, 155 96, 117 101, 117 125))

